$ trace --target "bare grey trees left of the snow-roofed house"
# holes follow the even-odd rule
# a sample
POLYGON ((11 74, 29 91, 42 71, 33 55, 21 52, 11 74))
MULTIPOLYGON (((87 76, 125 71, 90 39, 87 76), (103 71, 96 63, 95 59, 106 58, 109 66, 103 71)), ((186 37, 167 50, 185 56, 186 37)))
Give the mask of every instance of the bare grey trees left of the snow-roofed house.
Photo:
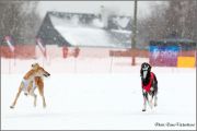
POLYGON ((0 38, 11 35, 15 43, 32 44, 40 19, 37 1, 0 1, 0 38))

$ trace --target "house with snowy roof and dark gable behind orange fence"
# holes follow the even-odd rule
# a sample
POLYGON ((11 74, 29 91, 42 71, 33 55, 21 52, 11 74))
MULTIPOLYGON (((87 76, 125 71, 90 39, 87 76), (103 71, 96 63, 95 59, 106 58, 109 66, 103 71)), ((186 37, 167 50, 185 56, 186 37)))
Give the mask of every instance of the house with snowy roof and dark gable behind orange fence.
POLYGON ((48 12, 37 37, 45 44, 78 47, 130 47, 131 19, 108 16, 104 26, 99 14, 48 12))

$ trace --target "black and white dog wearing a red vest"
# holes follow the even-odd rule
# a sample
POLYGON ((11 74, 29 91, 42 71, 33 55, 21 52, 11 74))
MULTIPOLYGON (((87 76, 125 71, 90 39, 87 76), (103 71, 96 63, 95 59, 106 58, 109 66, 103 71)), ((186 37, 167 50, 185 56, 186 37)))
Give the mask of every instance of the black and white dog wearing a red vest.
POLYGON ((142 111, 146 111, 147 109, 147 103, 149 103, 149 106, 153 107, 153 98, 154 98, 154 106, 157 106, 158 100, 158 80, 154 73, 151 72, 151 66, 147 62, 143 62, 141 64, 140 70, 140 76, 141 76, 141 84, 142 84, 142 94, 143 94, 143 109, 142 111), (149 99, 150 96, 150 99, 149 99))

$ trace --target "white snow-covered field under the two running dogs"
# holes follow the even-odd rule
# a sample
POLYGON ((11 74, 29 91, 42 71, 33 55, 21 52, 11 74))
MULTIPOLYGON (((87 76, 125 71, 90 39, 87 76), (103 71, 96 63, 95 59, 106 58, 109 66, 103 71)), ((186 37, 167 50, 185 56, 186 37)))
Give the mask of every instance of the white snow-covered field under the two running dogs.
MULTIPOLYGON (((50 61, 1 59, 2 130, 195 130, 196 69, 158 68, 158 107, 142 112, 140 63, 130 58, 68 58, 50 61), (38 95, 21 94, 10 109, 32 62, 50 72, 45 79, 47 107, 38 95)), ((37 93, 37 92, 36 92, 37 93)))

